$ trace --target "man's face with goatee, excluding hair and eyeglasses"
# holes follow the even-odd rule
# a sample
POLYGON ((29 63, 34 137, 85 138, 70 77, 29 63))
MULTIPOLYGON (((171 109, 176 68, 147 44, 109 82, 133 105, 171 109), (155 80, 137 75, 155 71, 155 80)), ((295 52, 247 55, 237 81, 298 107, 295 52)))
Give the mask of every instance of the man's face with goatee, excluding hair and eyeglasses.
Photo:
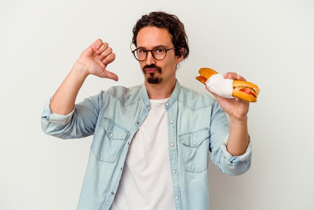
MULTIPOLYGON (((156 27, 145 27, 139 30, 137 37, 137 48, 151 50, 155 47, 173 48, 172 37, 167 29, 156 27)), ((160 84, 173 82, 176 80, 176 68, 182 60, 175 54, 175 50, 169 50, 163 60, 156 60, 152 57, 151 52, 147 52, 147 57, 139 61, 145 77, 145 82, 150 84, 160 84)))

